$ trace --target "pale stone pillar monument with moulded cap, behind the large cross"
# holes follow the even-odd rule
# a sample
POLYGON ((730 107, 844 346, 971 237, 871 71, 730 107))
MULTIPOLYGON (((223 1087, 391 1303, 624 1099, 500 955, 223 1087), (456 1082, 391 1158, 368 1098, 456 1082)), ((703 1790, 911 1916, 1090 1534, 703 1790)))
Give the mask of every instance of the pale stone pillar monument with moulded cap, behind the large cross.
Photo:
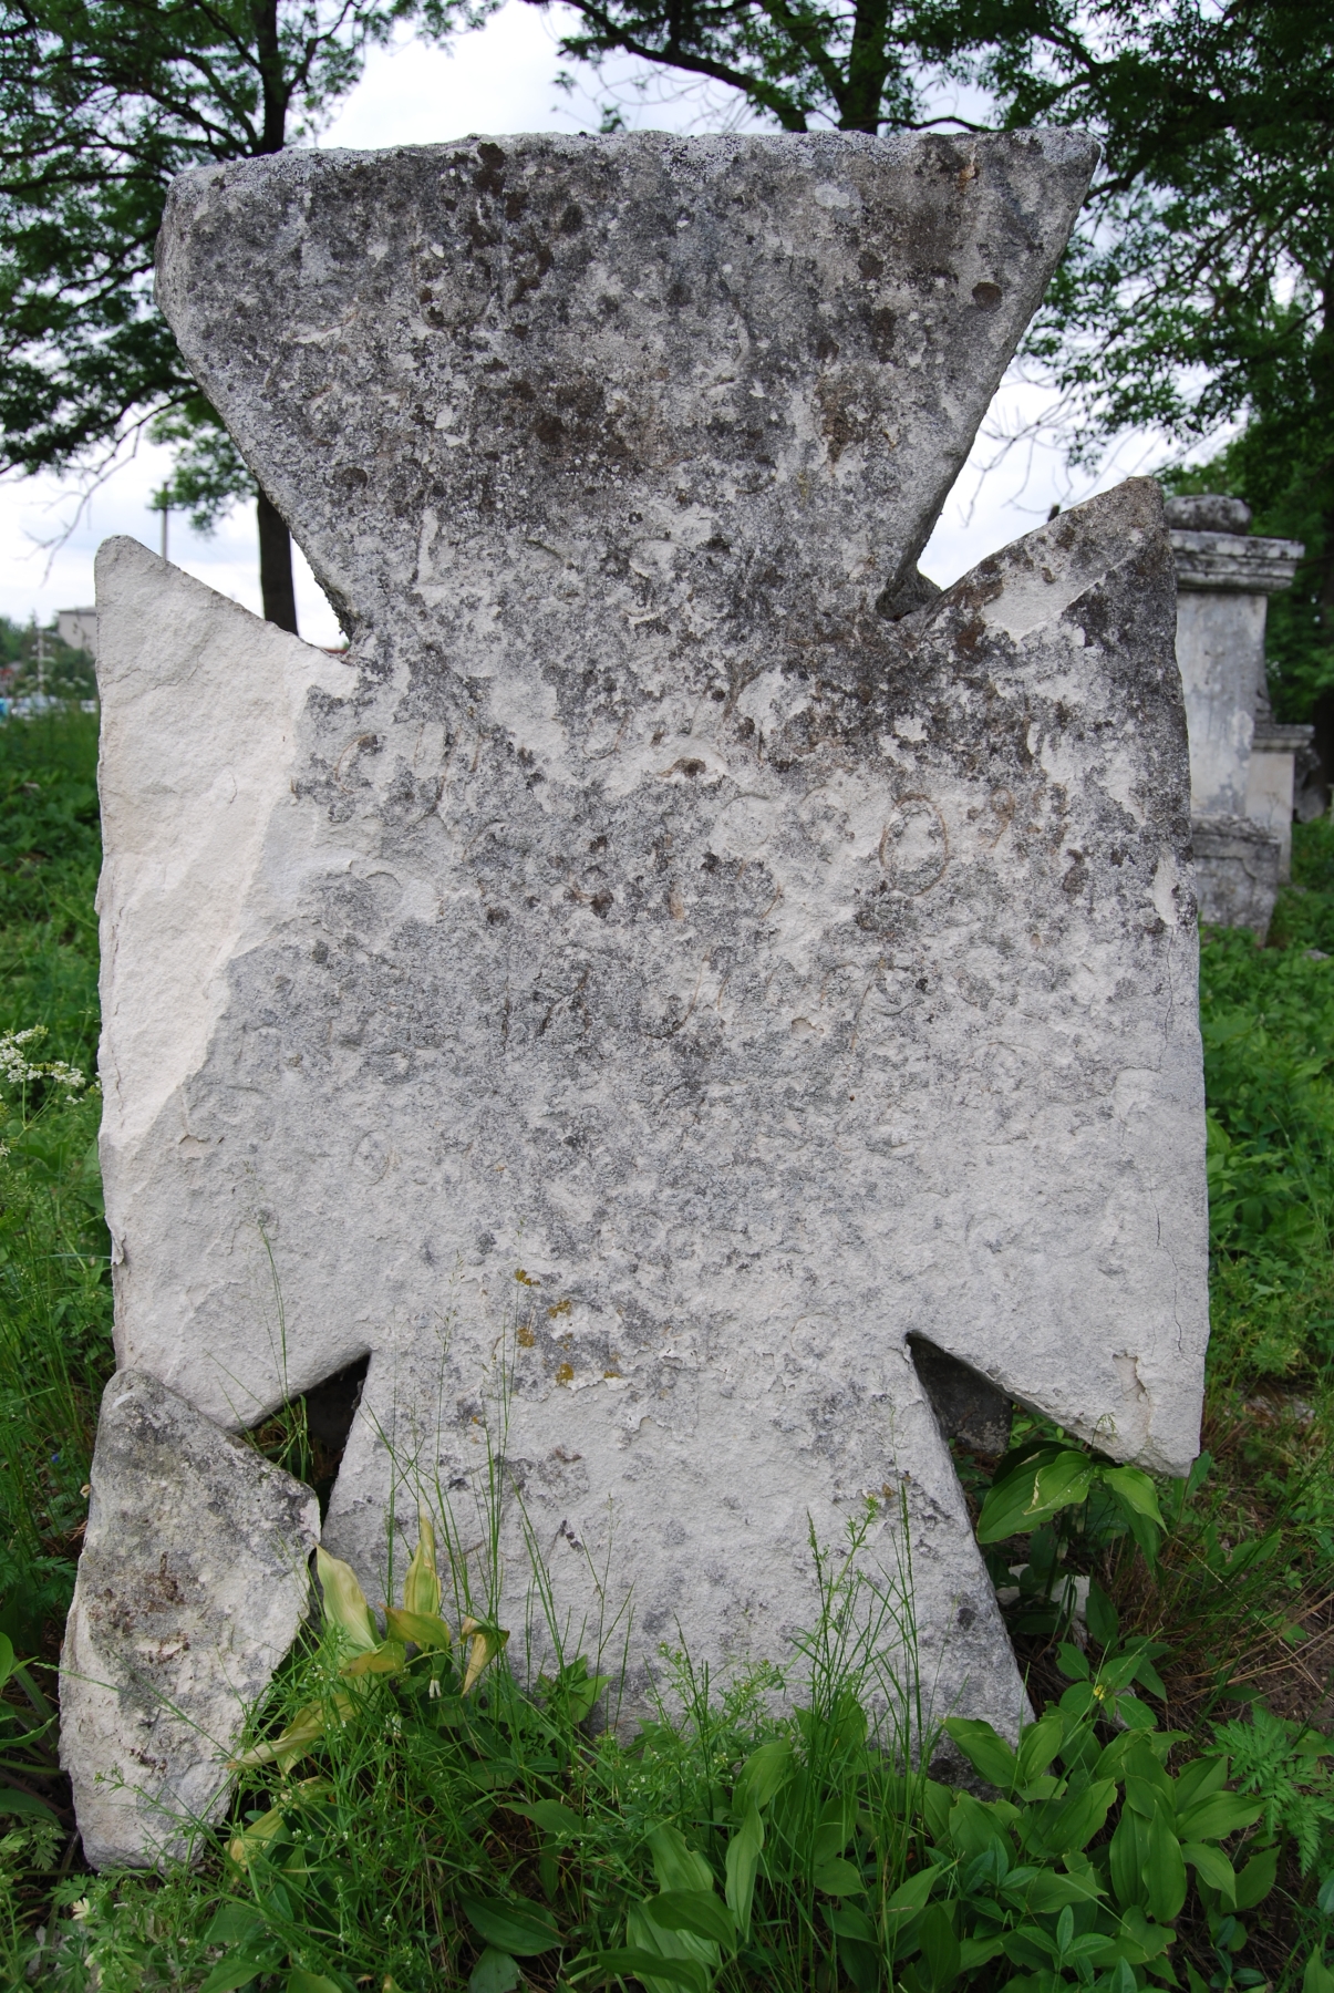
POLYGON ((1264 686, 1268 598, 1292 586, 1302 546, 1250 538, 1240 498, 1168 498, 1176 556, 1176 662, 1190 727, 1200 913, 1268 933, 1292 857, 1294 755, 1310 739, 1274 727, 1264 686))

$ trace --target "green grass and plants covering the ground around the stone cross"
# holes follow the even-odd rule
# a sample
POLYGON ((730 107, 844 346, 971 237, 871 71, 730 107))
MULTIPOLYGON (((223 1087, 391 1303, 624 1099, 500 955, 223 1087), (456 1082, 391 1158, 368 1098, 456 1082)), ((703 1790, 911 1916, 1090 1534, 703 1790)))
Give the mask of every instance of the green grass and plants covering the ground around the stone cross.
MULTIPOLYGON (((28 1068, 92 1074, 94 727, 82 713, 0 727, 0 1036, 46 1026, 20 1048, 28 1068)), ((1027 1565, 1011 1628, 1047 1714, 1019 1760, 967 1726, 955 1736, 985 1798, 907 1770, 917 1718, 875 1674, 865 1628, 911 1600, 853 1555, 826 1561, 826 1612, 782 1676, 712 1684, 678 1656, 658 1722, 634 1738, 598 1720, 596 1652, 562 1654, 546 1680, 493 1664, 465 1694, 459 1620, 469 1606, 485 1620, 485 1602, 451 1600, 451 1648, 385 1648, 387 1672, 351 1678, 331 1612, 255 1712, 259 1758, 231 1822, 201 1830, 197 1865, 82 1871, 42 1668, 112 1367, 98 1100, 52 1074, 4 1084, 4 1969, 108 1993, 582 1993, 616 1977, 648 1993, 1334 1993, 1320 1963, 1334 1935, 1334 825, 1298 827, 1294 865, 1272 947, 1230 933, 1202 951, 1206 1455, 1190 1483, 1159 1485, 1157 1519, 1095 1471, 1039 1529, 989 1547, 999 1580, 1027 1565), (1071 1624, 1073 1574, 1091 1578, 1087 1634, 1071 1624), (6 1634, 30 1666, 10 1670, 6 1634), (309 1708, 323 1736, 283 1754, 309 1708), (1174 1935, 1170 1953, 1155 1931, 1174 1935)), ((275 1445, 291 1441, 279 1423, 275 1445)), ((959 1471, 997 1517, 1013 1469, 1069 1453, 1019 1421, 1007 1461, 961 1453, 959 1471)), ((449 1503, 427 1491, 427 1505, 449 1598, 467 1582, 449 1503)))

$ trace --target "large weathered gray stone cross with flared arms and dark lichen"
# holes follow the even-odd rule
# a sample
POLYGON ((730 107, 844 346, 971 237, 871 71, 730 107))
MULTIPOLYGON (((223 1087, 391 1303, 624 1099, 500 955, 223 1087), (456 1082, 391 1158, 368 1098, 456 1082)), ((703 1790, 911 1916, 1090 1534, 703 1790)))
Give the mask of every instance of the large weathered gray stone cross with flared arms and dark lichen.
POLYGON ((369 1359, 329 1549, 389 1596, 389 1517, 471 1549, 500 1455, 502 1614, 524 1545, 570 1640, 628 1602, 632 1706, 660 1642, 782 1660, 869 1501, 933 1712, 1013 1730, 955 1413, 1196 1451, 1161 500, 915 574, 1093 155, 469 140, 171 191, 164 309, 351 650, 102 550, 120 1357, 229 1429, 369 1359))

